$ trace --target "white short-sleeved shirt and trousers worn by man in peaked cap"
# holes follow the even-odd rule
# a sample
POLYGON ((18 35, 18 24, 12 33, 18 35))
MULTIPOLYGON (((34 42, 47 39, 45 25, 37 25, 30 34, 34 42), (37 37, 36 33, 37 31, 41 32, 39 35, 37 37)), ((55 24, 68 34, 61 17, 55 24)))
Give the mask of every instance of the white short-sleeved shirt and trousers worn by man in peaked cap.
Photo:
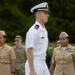
MULTIPOLYGON (((45 63, 48 35, 45 27, 42 27, 37 21, 26 34, 26 51, 30 47, 33 48, 33 62, 37 75, 50 75, 45 63)), ((25 75, 29 75, 30 68, 28 61, 26 61, 25 70, 25 75)))

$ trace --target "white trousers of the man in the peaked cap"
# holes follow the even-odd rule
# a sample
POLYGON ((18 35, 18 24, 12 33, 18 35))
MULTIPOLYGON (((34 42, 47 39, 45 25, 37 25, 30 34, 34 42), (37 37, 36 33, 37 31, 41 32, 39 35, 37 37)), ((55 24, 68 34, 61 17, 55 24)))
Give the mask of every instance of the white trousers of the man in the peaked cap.
MULTIPOLYGON (((50 75, 46 62, 44 60, 34 59, 34 69, 37 75, 50 75)), ((26 61, 25 63, 25 75, 30 75, 28 61, 26 61)))

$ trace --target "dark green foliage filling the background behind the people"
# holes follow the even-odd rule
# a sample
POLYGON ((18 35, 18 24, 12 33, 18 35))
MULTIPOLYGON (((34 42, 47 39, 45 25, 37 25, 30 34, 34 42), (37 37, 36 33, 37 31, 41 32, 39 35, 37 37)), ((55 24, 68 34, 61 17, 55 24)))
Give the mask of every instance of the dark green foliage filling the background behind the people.
POLYGON ((66 31, 75 42, 75 0, 0 0, 0 30, 6 31, 7 41, 13 41, 17 34, 25 39, 35 21, 30 9, 41 2, 48 2, 51 11, 46 24, 49 40, 58 40, 60 32, 66 31))

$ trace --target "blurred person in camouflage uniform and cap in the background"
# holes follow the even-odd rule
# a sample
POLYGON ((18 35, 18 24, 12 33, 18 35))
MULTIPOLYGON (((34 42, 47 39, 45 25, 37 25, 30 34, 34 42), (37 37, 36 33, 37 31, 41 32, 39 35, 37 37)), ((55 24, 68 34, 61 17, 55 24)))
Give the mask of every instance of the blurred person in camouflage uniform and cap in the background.
POLYGON ((15 75, 25 75, 25 46, 22 45, 22 37, 17 35, 15 37, 15 46, 13 46, 16 54, 16 68, 15 75))

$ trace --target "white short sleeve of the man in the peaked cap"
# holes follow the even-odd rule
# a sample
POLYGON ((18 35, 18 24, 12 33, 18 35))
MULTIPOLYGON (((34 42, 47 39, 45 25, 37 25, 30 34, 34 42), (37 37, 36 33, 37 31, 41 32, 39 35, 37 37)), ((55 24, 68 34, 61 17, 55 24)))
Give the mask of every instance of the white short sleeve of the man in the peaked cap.
POLYGON ((32 30, 26 35, 26 48, 34 48, 35 42, 38 38, 37 35, 36 30, 32 30))

